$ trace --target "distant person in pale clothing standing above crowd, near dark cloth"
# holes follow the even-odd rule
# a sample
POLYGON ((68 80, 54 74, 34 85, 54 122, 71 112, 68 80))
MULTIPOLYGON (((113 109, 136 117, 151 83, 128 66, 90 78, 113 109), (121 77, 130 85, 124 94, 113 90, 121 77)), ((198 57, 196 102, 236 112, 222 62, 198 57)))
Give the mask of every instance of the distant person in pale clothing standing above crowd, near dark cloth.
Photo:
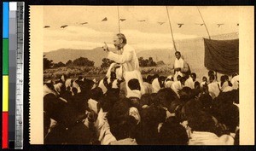
POLYGON ((177 76, 180 75, 183 77, 183 73, 187 73, 189 71, 189 65, 186 61, 181 58, 181 54, 179 51, 175 52, 176 59, 173 64, 174 68, 174 81, 177 81, 177 76))

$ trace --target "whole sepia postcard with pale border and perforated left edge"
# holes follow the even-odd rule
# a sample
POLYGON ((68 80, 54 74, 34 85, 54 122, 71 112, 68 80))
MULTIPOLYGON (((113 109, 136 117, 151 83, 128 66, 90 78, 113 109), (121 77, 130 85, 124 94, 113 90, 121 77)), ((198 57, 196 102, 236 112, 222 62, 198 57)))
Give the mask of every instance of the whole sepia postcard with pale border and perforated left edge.
POLYGON ((243 137, 244 125, 254 125, 244 122, 248 108, 241 104, 253 103, 241 90, 243 69, 253 67, 241 57, 253 52, 241 48, 252 12, 31 6, 31 143, 252 143, 243 137))

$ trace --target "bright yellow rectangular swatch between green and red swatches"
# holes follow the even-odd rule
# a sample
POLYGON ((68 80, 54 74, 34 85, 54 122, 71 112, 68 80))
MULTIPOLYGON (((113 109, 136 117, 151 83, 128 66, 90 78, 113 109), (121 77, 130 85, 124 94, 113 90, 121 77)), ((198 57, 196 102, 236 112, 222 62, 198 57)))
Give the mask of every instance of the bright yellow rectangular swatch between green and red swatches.
POLYGON ((3 75, 3 112, 8 112, 9 105, 9 76, 3 75))

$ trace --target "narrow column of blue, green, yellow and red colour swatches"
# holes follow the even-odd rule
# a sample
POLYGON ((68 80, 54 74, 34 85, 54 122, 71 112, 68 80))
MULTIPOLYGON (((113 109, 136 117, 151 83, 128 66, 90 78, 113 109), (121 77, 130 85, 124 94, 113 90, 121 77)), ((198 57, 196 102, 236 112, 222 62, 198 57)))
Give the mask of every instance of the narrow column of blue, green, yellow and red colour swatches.
POLYGON ((9 148, 9 3, 3 2, 2 148, 9 148))

